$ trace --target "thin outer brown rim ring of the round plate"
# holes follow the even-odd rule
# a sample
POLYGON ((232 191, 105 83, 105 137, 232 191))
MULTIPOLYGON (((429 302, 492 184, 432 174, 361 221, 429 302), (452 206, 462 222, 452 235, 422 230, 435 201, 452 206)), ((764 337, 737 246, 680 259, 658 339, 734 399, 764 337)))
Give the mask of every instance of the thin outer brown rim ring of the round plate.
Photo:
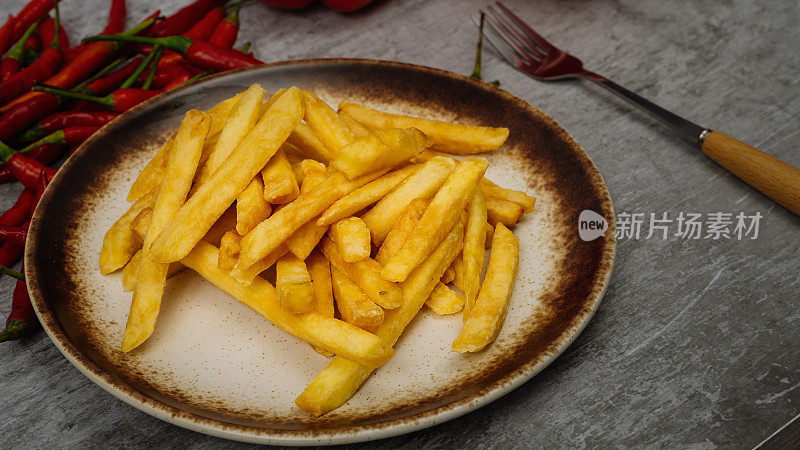
MULTIPOLYGON (((78 368, 79 371, 97 383, 101 388, 112 393, 131 406, 134 406, 135 408, 145 411, 162 420, 169 421, 194 431, 200 431, 218 437, 236 439, 240 441, 309 445, 323 443, 348 443, 370 439, 380 439, 445 422, 481 407, 493 400, 496 400, 497 398, 509 393, 514 388, 529 380, 536 373, 544 369, 544 367, 549 365, 552 360, 560 355, 572 343, 578 334, 580 334, 597 309, 605 289, 608 286, 616 251, 616 240, 614 238, 614 210, 605 182, 603 181, 602 176, 592 160, 586 154, 585 150, 563 128, 561 128, 560 125, 558 125, 553 119, 542 113, 531 104, 493 85, 449 71, 407 63, 346 58, 308 59, 276 62, 259 67, 215 74, 172 90, 169 93, 157 95, 156 97, 147 100, 146 102, 132 108, 130 111, 115 118, 100 131, 95 133, 91 138, 89 138, 89 140, 87 140, 83 145, 81 145, 80 148, 76 150, 75 157, 70 158, 64 164, 63 168, 64 170, 60 170, 53 178, 51 186, 45 191, 39 206, 33 214, 30 224, 29 239, 25 248, 26 255, 28 255, 25 262, 25 271, 28 274, 28 289, 34 309, 39 317, 40 322, 42 323, 43 328, 50 336, 51 340, 55 343, 56 347, 64 354, 64 356, 67 357, 70 362, 72 362, 73 365, 75 365, 76 368, 78 368), (594 249, 592 250, 592 256, 595 259, 592 267, 592 279, 583 281, 572 280, 574 283, 583 283, 585 285, 584 289, 586 291, 586 296, 584 303, 581 304, 582 308, 580 308, 580 310, 577 311, 574 316, 571 316, 568 324, 569 326, 565 327, 564 331, 549 344, 545 352, 534 356, 526 356, 527 359, 525 362, 513 367, 513 369, 510 369, 505 376, 487 381, 485 385, 482 385, 479 389, 474 390, 462 398, 457 398, 452 401, 445 401, 441 404, 433 405, 430 407, 430 409, 415 414, 403 415, 402 412, 398 411, 397 414, 381 417, 381 421, 379 422, 366 424, 346 424, 340 427, 289 430, 231 424, 209 419, 162 403, 123 382, 119 378, 108 374, 105 370, 103 370, 103 368, 98 366, 98 364, 91 359, 90 356, 88 356, 84 351, 79 349, 75 343, 72 342, 70 337, 62 328, 62 325, 56 317, 55 312, 48 307, 47 302, 44 299, 45 295, 43 287, 39 282, 40 264, 38 261, 39 255, 37 250, 40 248, 38 238, 42 229, 42 216, 46 215, 48 206, 53 200, 54 192, 58 190, 59 185, 64 182, 63 174, 66 173, 72 165, 77 163, 82 155, 87 152, 87 149, 91 147, 93 142, 116 130, 119 126, 118 124, 122 124, 129 118, 135 117, 140 111, 148 108, 150 105, 156 102, 164 100, 167 96, 176 96, 187 89, 191 89, 197 84, 208 83, 221 77, 232 77, 243 72, 265 70, 267 68, 274 68, 278 66, 314 66, 320 64, 330 65, 337 63, 343 65, 359 65, 364 67, 390 67, 398 70, 406 70, 447 78, 458 83, 467 83, 470 85, 471 89, 474 88, 484 91, 484 93, 499 96, 505 102, 509 102, 513 106, 525 110, 530 115, 544 121, 546 128, 555 135, 555 139, 563 141, 563 143, 569 147, 569 150, 574 153, 574 155, 571 156, 574 156, 580 168, 583 169, 583 176, 586 177, 586 181, 589 187, 592 188, 593 194, 595 195, 594 200, 596 201, 593 204, 593 207, 595 208, 594 210, 600 213, 609 222, 609 229, 606 232, 606 237, 603 239, 598 239, 595 241, 597 244, 592 246, 592 249, 594 249), (600 242, 602 242, 602 244, 600 244, 600 242)), ((574 217, 573 223, 575 226, 577 226, 577 216, 574 217)))

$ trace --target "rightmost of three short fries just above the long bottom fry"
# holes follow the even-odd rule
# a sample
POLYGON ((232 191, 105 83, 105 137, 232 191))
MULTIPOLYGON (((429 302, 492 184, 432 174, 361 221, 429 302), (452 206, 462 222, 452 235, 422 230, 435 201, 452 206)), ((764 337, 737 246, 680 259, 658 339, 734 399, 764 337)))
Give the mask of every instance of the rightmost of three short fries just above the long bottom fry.
POLYGON ((331 268, 333 296, 342 320, 370 333, 383 322, 383 309, 336 267, 331 268))

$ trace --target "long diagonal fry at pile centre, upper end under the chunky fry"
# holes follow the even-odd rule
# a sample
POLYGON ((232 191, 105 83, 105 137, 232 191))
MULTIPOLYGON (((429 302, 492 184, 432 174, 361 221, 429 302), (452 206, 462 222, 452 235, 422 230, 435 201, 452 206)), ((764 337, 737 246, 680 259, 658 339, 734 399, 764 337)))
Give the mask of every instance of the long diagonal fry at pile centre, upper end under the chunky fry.
POLYGON ((242 252, 231 275, 246 283, 244 272, 256 261, 274 251, 301 226, 322 214, 336 200, 369 183, 382 173, 376 172, 352 181, 341 173, 333 173, 311 191, 274 212, 242 237, 242 252))

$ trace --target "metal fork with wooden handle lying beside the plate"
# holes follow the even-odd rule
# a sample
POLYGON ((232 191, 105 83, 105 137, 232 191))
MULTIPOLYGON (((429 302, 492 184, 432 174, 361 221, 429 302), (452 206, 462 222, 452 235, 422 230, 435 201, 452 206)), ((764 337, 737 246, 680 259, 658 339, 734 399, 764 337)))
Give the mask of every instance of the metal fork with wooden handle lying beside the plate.
MULTIPOLYGON (((492 5, 486 8, 489 13, 485 18, 489 27, 483 30, 483 35, 516 69, 539 80, 583 78, 602 86, 661 119, 696 142, 706 156, 800 216, 800 169, 725 133, 690 122, 608 78, 584 69, 581 60, 548 42, 502 3, 496 4, 497 9, 492 5)), ((472 16, 472 21, 480 28, 475 16, 472 16)))

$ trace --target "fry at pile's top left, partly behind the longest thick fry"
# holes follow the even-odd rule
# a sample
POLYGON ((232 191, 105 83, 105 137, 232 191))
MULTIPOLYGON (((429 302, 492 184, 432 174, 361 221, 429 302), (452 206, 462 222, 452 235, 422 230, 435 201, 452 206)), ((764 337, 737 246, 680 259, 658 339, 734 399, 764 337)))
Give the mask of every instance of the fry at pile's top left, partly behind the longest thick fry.
POLYGON ((209 153, 205 165, 197 176, 195 184, 198 187, 211 179, 214 172, 258 122, 261 117, 260 105, 264 100, 264 94, 266 91, 260 85, 254 84, 244 91, 242 97, 231 108, 225 120, 225 126, 217 139, 217 145, 209 153))

